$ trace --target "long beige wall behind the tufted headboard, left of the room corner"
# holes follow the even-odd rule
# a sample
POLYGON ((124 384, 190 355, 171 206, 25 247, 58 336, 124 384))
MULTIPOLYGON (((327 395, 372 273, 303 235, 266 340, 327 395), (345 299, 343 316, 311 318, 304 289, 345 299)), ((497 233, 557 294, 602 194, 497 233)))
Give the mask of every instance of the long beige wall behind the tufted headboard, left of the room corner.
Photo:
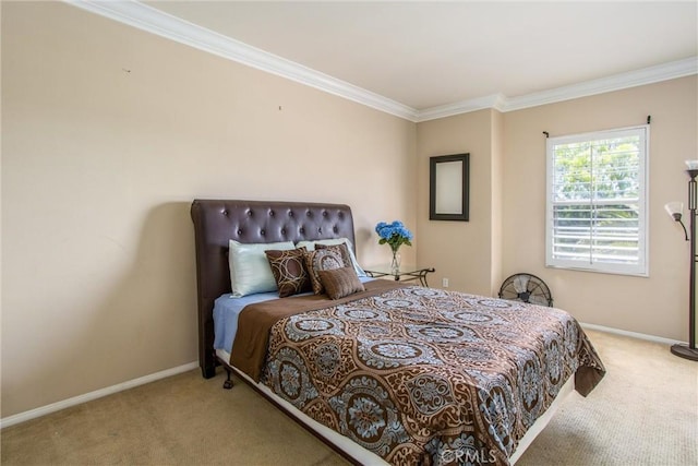
POLYGON ((417 226, 414 123, 65 3, 2 2, 2 417, 196 360, 194 198, 417 226))

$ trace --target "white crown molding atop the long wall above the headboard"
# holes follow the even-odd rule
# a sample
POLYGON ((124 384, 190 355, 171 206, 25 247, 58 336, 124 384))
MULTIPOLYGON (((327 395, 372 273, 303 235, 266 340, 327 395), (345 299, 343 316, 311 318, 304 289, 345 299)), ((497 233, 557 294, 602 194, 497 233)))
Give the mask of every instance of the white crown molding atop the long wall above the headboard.
POLYGON ((266 52, 135 0, 63 0, 73 7, 196 49, 416 121, 418 110, 353 84, 266 52))

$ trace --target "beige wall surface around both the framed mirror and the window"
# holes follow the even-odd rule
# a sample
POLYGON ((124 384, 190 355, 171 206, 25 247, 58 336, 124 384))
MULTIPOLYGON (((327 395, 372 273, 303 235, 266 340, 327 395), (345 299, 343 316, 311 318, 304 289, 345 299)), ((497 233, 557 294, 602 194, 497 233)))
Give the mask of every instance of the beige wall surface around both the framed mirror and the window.
POLYGON ((688 338, 688 249, 663 206, 687 202, 684 159, 698 156, 696 76, 498 113, 482 110, 419 123, 419 258, 441 285, 495 295, 508 275, 547 283, 555 306, 579 321, 688 338), (650 277, 545 267, 545 139, 643 124, 651 115, 650 277), (429 156, 469 152, 470 222, 429 220, 429 156))

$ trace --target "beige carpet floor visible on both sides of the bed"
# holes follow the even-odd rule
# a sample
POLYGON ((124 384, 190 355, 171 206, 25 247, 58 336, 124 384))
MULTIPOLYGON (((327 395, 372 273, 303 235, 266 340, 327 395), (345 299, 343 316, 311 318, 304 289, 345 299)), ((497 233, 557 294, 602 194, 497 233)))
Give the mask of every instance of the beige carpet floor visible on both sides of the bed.
MULTIPOLYGON (((698 465, 698 362, 588 332, 609 374, 517 463, 698 465)), ((346 465, 244 383, 191 371, 0 432, 3 465, 346 465)))

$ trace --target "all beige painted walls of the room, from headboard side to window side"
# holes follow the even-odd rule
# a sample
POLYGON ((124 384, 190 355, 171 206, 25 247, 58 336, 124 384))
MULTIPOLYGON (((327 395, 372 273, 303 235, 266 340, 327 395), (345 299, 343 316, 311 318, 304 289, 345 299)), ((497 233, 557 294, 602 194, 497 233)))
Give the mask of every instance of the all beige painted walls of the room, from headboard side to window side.
POLYGON ((419 124, 64 3, 2 2, 2 417, 196 359, 193 198, 342 202, 359 260, 402 219, 430 284, 527 271, 580 321, 686 339, 663 204, 698 154, 696 76, 419 124), (128 70, 128 71, 127 71, 128 70), (649 278, 544 267, 545 141, 652 115, 649 278), (470 222, 429 220, 429 157, 470 153, 470 222))

